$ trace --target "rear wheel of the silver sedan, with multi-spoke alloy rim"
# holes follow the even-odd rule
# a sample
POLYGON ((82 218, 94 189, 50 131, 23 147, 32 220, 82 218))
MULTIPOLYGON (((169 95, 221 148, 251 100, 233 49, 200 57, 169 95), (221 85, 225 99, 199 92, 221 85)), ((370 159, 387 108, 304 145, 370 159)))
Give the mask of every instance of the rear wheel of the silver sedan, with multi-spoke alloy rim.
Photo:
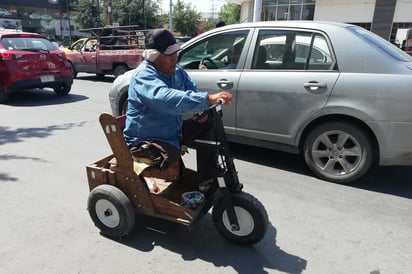
POLYGON ((368 172, 373 164, 371 140, 363 129, 344 122, 325 123, 307 136, 305 162, 327 181, 349 183, 368 172))

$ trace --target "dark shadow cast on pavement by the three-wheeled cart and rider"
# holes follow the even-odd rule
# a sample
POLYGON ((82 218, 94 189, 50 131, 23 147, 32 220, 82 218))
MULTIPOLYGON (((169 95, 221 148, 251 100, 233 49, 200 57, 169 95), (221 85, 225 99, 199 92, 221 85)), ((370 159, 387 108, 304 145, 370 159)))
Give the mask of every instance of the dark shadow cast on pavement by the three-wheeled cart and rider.
POLYGON ((185 261, 203 260, 215 267, 233 268, 237 273, 268 273, 270 269, 302 273, 306 269, 306 260, 276 245, 276 229, 271 224, 262 241, 253 246, 239 246, 218 234, 210 214, 191 231, 183 225, 145 215, 136 218, 131 234, 118 242, 142 252, 160 247, 180 254, 185 261))

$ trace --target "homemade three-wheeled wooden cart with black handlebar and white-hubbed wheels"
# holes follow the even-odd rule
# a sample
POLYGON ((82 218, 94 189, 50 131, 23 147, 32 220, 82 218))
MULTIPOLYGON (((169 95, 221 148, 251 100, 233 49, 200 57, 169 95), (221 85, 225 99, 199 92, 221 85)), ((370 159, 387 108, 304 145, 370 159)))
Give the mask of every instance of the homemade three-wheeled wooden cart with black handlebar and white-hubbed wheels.
POLYGON ((189 206, 182 195, 199 193, 196 171, 184 167, 181 159, 164 171, 136 162, 123 139, 119 119, 110 114, 100 116, 113 154, 87 165, 86 170, 90 188, 88 211, 103 235, 123 237, 130 233, 135 213, 190 227, 212 208, 215 227, 225 239, 247 245, 264 237, 268 216, 255 197, 242 191, 224 135, 221 107, 211 107, 209 115, 216 120, 223 138, 216 142, 198 140, 197 145, 217 150, 219 174, 204 190, 200 203, 189 206), (155 180, 157 193, 151 191, 148 178, 155 180))

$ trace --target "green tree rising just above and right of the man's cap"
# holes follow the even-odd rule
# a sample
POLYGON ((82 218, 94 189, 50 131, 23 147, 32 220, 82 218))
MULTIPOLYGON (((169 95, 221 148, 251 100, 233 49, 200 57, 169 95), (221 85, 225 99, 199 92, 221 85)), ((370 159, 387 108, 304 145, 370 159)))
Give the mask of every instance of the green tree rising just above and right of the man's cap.
POLYGON ((197 33, 197 24, 200 20, 200 13, 192 9, 191 4, 184 4, 178 0, 173 5, 173 29, 183 36, 194 36, 197 33))

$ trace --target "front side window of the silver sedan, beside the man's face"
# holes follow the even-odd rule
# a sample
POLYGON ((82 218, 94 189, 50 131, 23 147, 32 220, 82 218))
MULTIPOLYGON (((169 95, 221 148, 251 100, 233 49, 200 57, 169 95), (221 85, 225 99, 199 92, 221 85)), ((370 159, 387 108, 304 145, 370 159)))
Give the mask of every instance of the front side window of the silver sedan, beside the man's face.
POLYGON ((248 30, 231 31, 203 39, 179 54, 185 69, 235 69, 248 30))

